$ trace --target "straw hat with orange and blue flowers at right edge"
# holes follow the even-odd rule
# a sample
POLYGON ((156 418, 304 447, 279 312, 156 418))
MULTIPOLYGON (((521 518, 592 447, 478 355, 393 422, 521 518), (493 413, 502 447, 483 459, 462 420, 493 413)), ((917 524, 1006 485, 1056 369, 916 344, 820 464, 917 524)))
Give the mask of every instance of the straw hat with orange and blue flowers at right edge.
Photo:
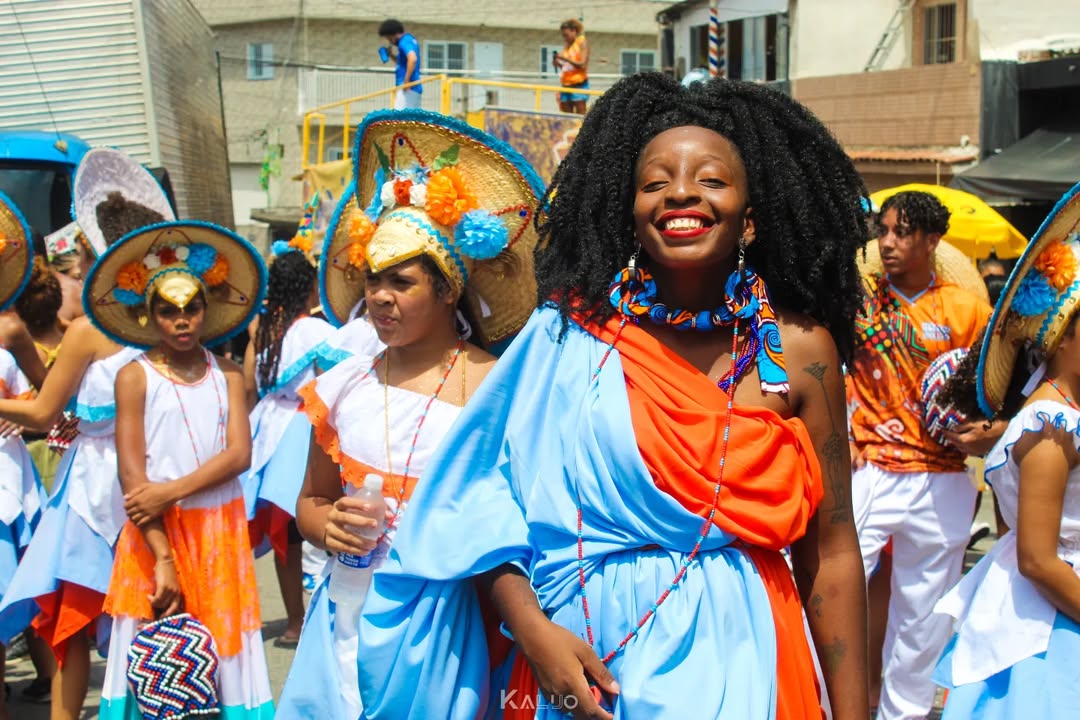
POLYGON ((1080 302, 1080 184, 1042 221, 994 309, 975 386, 987 417, 1005 402, 1022 351, 1044 361, 1057 350, 1080 302))

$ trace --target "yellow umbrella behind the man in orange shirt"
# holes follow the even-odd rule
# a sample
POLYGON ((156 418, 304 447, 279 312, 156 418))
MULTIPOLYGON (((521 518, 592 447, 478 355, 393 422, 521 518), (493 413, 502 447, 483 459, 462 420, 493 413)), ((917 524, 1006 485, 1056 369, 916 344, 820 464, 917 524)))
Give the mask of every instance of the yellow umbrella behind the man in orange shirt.
POLYGON ((906 190, 929 192, 942 201, 950 214, 948 232, 942 240, 948 241, 968 257, 985 258, 994 253, 1002 259, 1018 258, 1027 247, 1027 237, 997 210, 970 192, 912 182, 878 190, 870 195, 870 200, 875 207, 880 207, 886 200, 906 190))

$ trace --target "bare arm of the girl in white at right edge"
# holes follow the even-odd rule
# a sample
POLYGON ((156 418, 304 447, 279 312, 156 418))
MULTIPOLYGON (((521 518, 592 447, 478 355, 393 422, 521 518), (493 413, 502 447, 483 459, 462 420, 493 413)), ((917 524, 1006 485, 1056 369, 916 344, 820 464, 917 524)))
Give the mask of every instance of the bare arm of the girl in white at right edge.
POLYGON ((1051 604, 1080 622, 1080 576, 1057 556, 1069 471, 1080 458, 1068 433, 1053 429, 1017 443, 1015 457, 1020 463, 1020 571, 1051 604))

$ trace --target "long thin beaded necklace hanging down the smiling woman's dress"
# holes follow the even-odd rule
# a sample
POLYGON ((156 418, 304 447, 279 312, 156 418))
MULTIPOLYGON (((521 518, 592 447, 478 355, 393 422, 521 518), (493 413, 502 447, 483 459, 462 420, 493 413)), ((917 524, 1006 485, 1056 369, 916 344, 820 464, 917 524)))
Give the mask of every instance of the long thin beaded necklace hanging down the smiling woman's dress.
MULTIPOLYGON (((626 327, 626 322, 627 318, 623 316, 622 322, 619 323, 619 330, 616 332, 615 338, 611 340, 611 342, 607 347, 607 350, 604 352, 604 356, 600 358, 599 364, 596 366, 596 370, 593 371, 593 376, 590 382, 595 381, 596 378, 599 376, 600 370, 604 368, 605 363, 607 363, 608 357, 611 355, 611 351, 615 350, 615 344, 619 341, 619 338, 622 337, 622 329, 626 327)), ((637 634, 642 630, 643 627, 645 627, 645 624, 648 623, 649 620, 657 613, 657 610, 660 608, 660 606, 664 603, 664 600, 667 599, 667 597, 672 594, 675 587, 683 580, 683 576, 686 575, 687 568, 689 568, 690 563, 693 562, 693 559, 698 557, 698 552, 701 549, 701 544, 705 542, 705 538, 708 536, 708 530, 712 528, 713 518, 716 516, 716 511, 720 502, 720 486, 724 485, 724 466, 726 464, 726 460, 728 457, 728 439, 731 436, 731 412, 732 408, 734 407, 735 380, 738 379, 735 370, 738 365, 739 365, 739 322, 737 321, 734 323, 733 337, 731 340, 731 369, 728 370, 727 375, 724 376, 725 378, 731 377, 732 380, 727 383, 727 386, 721 385, 723 380, 717 383, 717 385, 720 385, 721 390, 724 390, 724 393, 727 395, 728 406, 727 406, 727 416, 724 422, 724 443, 721 445, 721 450, 720 450, 720 467, 716 477, 716 487, 713 489, 713 506, 712 508, 710 508, 708 515, 705 516, 704 518, 704 522, 701 526, 701 533, 698 535, 698 541, 693 544, 693 549, 690 551, 689 555, 683 558, 683 561, 680 563, 678 572, 675 574, 675 578, 672 580, 671 583, 667 584, 667 587, 664 589, 663 593, 660 594, 660 597, 657 598, 656 602, 652 603, 649 610, 644 615, 642 615, 640 620, 637 621, 637 625, 634 626, 634 629, 627 633, 626 637, 620 640, 619 644, 616 646, 613 650, 611 650, 608 654, 604 656, 605 665, 610 663, 612 660, 615 660, 616 655, 625 650, 630 641, 633 640, 635 637, 637 637, 637 634)), ((581 587, 581 593, 580 593, 581 609, 585 615, 585 633, 589 636, 588 637, 589 646, 595 647, 593 637, 593 621, 592 616, 589 614, 589 597, 585 594, 585 552, 584 552, 584 539, 582 536, 583 526, 584 526, 584 519, 583 519, 584 513, 581 507, 580 491, 578 491, 577 493, 577 504, 578 504, 578 582, 581 587)))

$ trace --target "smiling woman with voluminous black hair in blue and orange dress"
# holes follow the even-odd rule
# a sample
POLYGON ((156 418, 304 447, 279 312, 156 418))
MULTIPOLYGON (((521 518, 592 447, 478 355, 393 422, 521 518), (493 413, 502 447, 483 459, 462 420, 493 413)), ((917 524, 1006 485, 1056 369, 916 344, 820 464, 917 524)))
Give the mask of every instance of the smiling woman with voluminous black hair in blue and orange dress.
POLYGON ((765 86, 597 101, 542 204, 539 308, 376 573, 366 717, 818 719, 804 608, 833 717, 866 717, 840 369, 864 193, 765 86), (477 586, 516 641, 490 681, 477 586))

